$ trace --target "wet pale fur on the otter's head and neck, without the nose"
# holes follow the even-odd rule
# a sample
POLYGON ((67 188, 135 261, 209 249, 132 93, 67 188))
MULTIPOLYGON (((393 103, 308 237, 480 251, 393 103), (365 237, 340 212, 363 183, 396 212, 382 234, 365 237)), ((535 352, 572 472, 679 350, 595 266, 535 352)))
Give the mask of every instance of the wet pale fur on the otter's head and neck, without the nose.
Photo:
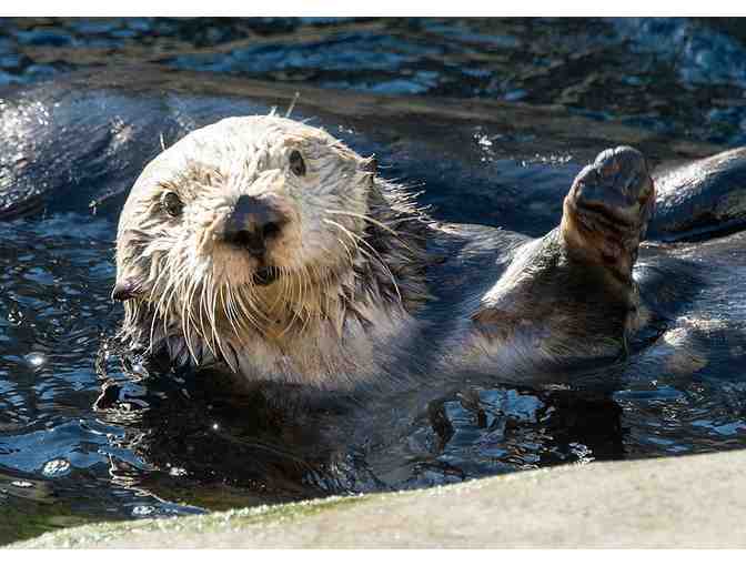
POLYGON ((349 352, 329 344, 343 332, 361 342, 372 319, 405 317, 426 294, 424 223, 371 164, 323 130, 274 115, 226 119, 165 150, 120 219, 123 335, 165 347, 178 365, 212 360, 245 374, 249 363, 291 381, 343 372, 349 352), (226 235, 245 202, 282 221, 261 254, 226 235))

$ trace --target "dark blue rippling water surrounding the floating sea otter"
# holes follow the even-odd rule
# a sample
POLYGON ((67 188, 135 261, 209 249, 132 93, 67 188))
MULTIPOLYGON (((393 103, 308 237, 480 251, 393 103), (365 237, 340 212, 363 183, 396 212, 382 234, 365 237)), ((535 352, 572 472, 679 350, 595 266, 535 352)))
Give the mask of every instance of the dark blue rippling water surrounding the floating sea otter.
MULTIPOLYGON (((578 168, 624 135, 658 161, 746 143, 745 36, 732 22, 683 19, 6 20, 0 83, 151 62, 345 89, 352 101, 383 93, 414 108, 406 97, 421 95, 460 111, 507 102, 457 128, 445 113, 427 122, 397 114, 367 138, 359 132, 373 121, 355 125, 360 109, 320 120, 337 120, 335 133, 379 152, 385 174, 425 181, 421 201, 436 216, 538 234, 578 168)), ((200 114, 190 100, 172 102, 200 114)), ((251 111, 241 101, 199 103, 251 111)), ((120 173, 75 182, 125 186, 137 174, 120 173)), ((92 520, 746 446, 746 373, 693 354, 686 371, 596 400, 483 383, 401 398, 384 434, 324 452, 314 425, 345 407, 325 410, 323 423, 274 422, 262 400, 225 398, 188 376, 159 380, 158 368, 120 355, 111 336, 122 313, 109 300, 117 210, 93 216, 57 203, 43 219, 0 223, 0 543, 92 520)), ((737 317, 743 307, 729 299, 737 317)), ((746 345, 708 336, 710 347, 746 345)))

